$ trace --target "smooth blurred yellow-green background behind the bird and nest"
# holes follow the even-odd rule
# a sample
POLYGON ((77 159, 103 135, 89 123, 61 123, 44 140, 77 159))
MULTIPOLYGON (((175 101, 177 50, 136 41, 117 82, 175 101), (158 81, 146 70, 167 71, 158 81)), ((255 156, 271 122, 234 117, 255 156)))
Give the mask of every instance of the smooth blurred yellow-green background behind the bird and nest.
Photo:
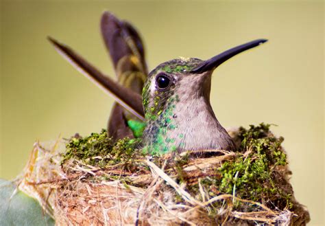
POLYGON ((323 1, 1 1, 0 177, 13 179, 36 140, 106 128, 112 98, 49 45, 51 35, 114 77, 99 33, 104 10, 141 32, 147 63, 210 58, 269 42, 221 65, 211 102, 225 127, 274 123, 296 198, 324 225, 323 1))

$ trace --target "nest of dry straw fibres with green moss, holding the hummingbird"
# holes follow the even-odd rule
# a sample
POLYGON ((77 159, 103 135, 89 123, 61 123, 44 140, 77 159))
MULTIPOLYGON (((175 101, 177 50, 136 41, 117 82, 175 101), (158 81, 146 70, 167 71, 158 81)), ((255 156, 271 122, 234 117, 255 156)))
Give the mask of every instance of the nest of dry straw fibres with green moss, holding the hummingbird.
POLYGON ((152 157, 106 131, 34 144, 19 188, 57 225, 306 225, 269 125, 229 131, 236 152, 152 157))

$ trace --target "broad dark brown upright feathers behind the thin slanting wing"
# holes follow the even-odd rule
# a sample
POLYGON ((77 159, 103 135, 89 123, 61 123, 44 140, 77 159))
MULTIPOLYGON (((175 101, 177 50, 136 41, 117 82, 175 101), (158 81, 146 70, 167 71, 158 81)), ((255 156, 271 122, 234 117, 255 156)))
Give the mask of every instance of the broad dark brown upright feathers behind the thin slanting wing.
MULTIPOLYGON (((119 84, 141 94, 147 78, 147 65, 141 37, 128 22, 119 20, 110 12, 101 16, 101 34, 110 54, 119 84)), ((132 127, 130 122, 137 119, 134 115, 115 104, 108 120, 108 133, 114 139, 137 137, 144 127, 132 127)))

